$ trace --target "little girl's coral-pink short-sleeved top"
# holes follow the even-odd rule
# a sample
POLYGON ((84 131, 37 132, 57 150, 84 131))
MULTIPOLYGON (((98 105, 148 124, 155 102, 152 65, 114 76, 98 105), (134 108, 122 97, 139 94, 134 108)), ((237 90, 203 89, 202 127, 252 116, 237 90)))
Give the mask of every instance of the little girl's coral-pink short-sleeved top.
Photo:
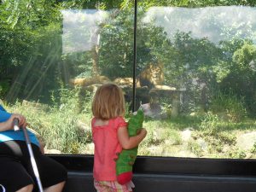
POLYGON ((97 181, 116 181, 115 159, 122 151, 118 141, 119 127, 127 126, 125 119, 109 119, 108 125, 95 126, 92 119, 92 139, 95 144, 93 177, 97 181))

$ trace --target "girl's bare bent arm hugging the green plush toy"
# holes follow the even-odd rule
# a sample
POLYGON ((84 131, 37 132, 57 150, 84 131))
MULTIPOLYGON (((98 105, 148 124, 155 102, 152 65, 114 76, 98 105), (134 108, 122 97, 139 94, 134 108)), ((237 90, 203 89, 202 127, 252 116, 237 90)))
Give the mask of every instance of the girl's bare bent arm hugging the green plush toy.
POLYGON ((119 143, 124 149, 131 149, 138 146, 139 143, 143 141, 146 137, 147 131, 142 128, 141 131, 137 134, 137 136, 129 137, 129 133, 127 131, 127 127, 119 127, 118 129, 118 138, 119 143))

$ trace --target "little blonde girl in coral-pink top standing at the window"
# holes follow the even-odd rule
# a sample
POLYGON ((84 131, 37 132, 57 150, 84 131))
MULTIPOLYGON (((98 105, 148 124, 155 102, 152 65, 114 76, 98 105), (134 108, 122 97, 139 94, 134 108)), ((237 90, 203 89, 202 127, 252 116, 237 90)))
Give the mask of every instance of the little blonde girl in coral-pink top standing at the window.
POLYGON ((103 84, 92 102, 92 138, 95 144, 93 177, 98 192, 129 192, 133 183, 120 185, 116 178, 115 160, 122 148, 135 148, 146 137, 142 130, 129 137, 125 115, 125 98, 116 84, 103 84))

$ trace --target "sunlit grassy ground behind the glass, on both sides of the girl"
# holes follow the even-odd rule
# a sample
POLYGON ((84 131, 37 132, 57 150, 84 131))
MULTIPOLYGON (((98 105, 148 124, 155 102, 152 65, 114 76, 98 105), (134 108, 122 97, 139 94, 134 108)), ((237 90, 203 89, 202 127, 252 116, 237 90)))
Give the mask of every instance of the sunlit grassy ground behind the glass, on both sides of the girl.
MULTIPOLYGON (((38 132, 47 148, 62 154, 93 154, 90 133, 92 93, 82 89, 61 89, 52 93, 50 104, 16 102, 4 104, 9 112, 23 113, 30 128, 38 132)), ((126 108, 128 109, 128 104, 126 108)), ((242 102, 236 97, 219 95, 212 100, 211 111, 195 116, 167 119, 146 118, 148 135, 140 144, 140 155, 244 158, 247 152, 236 148, 237 132, 255 130, 255 119, 247 119, 242 102), (224 119, 222 113, 234 119, 224 119), (242 121, 238 119, 243 119, 242 121), (184 141, 181 134, 190 130, 184 141)), ((125 116, 127 119, 129 115, 125 116)), ((252 153, 256 156, 256 150, 252 153)))

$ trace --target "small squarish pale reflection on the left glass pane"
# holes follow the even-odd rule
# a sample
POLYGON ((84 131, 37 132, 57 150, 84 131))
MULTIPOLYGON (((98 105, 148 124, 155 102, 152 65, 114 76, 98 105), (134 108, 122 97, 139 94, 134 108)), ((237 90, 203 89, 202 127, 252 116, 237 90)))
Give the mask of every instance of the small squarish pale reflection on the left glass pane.
POLYGON ((88 10, 61 10, 63 15, 62 53, 83 52, 100 41, 100 24, 108 12, 88 10))

